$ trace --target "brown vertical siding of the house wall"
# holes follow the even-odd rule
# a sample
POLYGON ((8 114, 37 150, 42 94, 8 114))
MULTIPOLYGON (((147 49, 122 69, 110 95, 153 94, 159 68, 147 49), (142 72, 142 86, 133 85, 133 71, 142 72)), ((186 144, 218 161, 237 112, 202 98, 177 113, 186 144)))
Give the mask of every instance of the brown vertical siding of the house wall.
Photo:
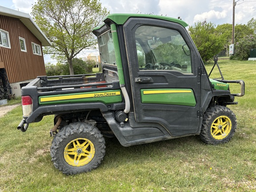
POLYGON ((0 47, 0 62, 4 62, 10 83, 44 76, 44 57, 41 42, 16 18, 0 15, 0 29, 9 32, 11 48, 0 47), (20 50, 19 37, 25 39, 27 52, 20 50), (33 54, 32 42, 41 46, 41 56, 33 54))

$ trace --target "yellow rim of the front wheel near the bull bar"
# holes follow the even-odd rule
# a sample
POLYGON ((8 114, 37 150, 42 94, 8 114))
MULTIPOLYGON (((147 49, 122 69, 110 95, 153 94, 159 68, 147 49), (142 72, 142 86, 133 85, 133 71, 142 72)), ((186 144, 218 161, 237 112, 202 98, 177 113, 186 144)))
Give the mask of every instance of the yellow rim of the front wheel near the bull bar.
POLYGON ((216 140, 222 140, 228 136, 228 134, 231 131, 231 128, 231 120, 227 116, 219 116, 212 123, 212 137, 216 140))

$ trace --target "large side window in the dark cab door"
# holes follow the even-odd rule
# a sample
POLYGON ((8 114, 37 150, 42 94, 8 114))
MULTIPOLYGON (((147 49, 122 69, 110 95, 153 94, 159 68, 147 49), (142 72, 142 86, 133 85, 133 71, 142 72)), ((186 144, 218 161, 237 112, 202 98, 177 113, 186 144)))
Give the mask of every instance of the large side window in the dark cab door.
POLYGON ((140 70, 174 70, 192 73, 191 54, 180 32, 143 25, 136 29, 140 70))

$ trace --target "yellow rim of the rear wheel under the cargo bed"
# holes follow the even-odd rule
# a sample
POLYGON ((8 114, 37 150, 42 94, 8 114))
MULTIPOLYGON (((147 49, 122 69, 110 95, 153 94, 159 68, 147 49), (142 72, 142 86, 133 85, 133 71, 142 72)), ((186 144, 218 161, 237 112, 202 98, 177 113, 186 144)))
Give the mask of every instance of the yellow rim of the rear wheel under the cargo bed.
POLYGON ((64 148, 64 159, 74 167, 81 167, 88 164, 94 155, 94 144, 86 138, 74 139, 64 148))

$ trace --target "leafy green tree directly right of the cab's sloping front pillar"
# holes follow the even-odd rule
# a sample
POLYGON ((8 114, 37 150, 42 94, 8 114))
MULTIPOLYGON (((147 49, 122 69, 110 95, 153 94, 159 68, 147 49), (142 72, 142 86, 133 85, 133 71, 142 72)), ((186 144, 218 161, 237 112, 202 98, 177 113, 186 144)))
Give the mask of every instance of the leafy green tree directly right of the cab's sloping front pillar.
POLYGON ((195 23, 195 26, 188 28, 190 36, 204 61, 208 61, 214 55, 218 54, 224 46, 222 37, 218 35, 214 27, 214 24, 211 22, 198 21, 195 23))

